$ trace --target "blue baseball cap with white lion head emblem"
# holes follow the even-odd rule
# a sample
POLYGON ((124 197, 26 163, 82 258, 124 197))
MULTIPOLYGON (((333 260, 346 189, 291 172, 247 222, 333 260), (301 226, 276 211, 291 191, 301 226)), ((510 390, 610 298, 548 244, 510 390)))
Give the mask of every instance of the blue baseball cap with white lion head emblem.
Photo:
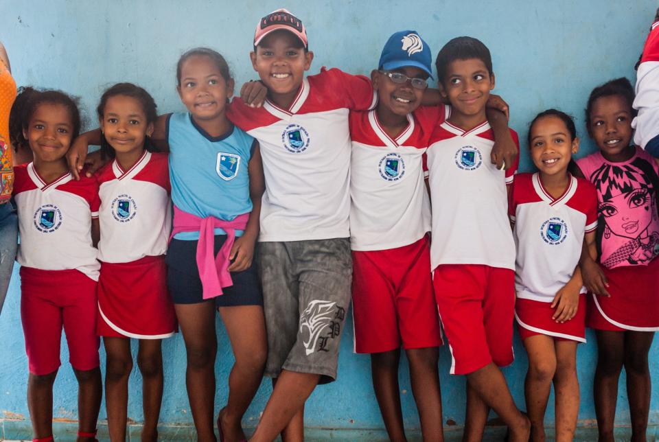
POLYGON ((432 78, 430 47, 416 31, 400 31, 389 37, 378 62, 378 69, 384 71, 406 66, 423 69, 432 78))

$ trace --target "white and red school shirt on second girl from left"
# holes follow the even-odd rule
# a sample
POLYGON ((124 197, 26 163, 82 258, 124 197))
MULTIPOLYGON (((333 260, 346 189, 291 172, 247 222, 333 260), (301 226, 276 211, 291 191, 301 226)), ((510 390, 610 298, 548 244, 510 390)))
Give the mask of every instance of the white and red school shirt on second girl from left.
POLYGON ((98 259, 119 263, 164 255, 172 231, 167 154, 145 150, 129 170, 112 161, 97 179, 98 259))

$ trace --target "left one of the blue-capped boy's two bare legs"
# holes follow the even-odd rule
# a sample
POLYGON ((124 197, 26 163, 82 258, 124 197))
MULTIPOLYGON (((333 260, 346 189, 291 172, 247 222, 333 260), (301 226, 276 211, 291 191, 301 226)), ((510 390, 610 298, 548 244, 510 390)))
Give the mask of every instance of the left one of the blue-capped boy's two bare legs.
POLYGON ((406 441, 398 386, 399 361, 400 349, 371 353, 373 391, 375 398, 378 399, 384 428, 391 442, 406 441))

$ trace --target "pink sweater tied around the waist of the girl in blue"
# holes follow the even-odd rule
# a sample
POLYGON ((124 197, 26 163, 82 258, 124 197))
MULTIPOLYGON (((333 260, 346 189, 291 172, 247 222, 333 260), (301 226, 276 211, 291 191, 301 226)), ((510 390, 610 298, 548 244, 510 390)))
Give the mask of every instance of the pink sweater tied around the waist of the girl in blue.
POLYGON ((229 253, 235 240, 235 231, 245 230, 248 220, 249 213, 238 215, 232 221, 218 220, 213 216, 199 218, 174 206, 174 229, 170 241, 177 233, 199 232, 196 259, 204 299, 219 296, 223 287, 233 286, 229 273, 229 253), (213 258, 215 229, 223 229, 227 232, 227 240, 222 244, 218 255, 213 258))

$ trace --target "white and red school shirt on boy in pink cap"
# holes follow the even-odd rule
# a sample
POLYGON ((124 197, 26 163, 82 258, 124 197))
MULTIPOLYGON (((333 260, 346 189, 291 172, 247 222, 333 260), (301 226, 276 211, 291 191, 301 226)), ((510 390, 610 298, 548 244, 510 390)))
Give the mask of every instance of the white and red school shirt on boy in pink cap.
POLYGON ((322 69, 288 109, 233 100, 227 116, 259 141, 266 178, 259 241, 349 237, 349 110, 373 107, 371 81, 322 69))

